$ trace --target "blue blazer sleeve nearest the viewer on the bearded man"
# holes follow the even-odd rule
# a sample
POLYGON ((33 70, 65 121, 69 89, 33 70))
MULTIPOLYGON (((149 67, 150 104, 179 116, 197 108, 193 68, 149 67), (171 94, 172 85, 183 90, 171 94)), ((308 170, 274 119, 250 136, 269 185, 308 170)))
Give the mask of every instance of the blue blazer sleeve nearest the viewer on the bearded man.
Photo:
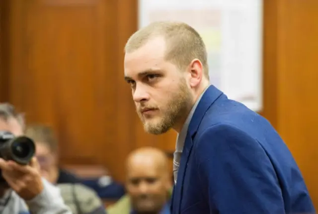
POLYGON ((285 213, 274 167, 255 139, 223 124, 198 137, 195 155, 210 213, 285 213))

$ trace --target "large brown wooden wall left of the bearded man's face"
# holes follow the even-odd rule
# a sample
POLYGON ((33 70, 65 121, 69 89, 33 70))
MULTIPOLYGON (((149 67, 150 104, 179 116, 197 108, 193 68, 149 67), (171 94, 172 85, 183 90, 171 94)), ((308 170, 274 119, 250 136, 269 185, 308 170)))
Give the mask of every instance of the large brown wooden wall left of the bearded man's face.
POLYGON ((10 7, 9 101, 28 122, 54 126, 62 163, 102 164, 123 180, 135 142, 122 69, 132 31, 120 32, 131 24, 128 7, 115 0, 12 0, 10 7))

